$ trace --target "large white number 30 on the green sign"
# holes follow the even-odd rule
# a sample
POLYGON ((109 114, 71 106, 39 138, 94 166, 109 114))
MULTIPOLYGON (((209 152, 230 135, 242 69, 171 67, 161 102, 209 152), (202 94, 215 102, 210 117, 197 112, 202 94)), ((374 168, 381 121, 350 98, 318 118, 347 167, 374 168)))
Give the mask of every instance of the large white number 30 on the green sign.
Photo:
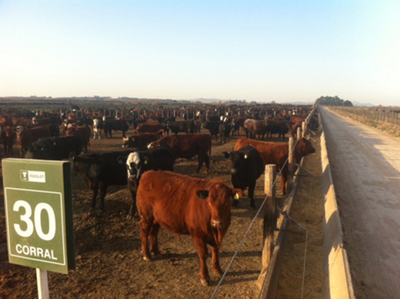
POLYGON ((54 215, 54 210, 51 207, 51 205, 43 202, 38 203, 36 205, 34 212, 35 225, 33 225, 33 222, 30 219, 30 216, 32 215, 32 209, 30 207, 30 204, 24 200, 17 200, 14 203, 13 210, 17 212, 19 211, 20 207, 23 207, 25 209, 25 213, 20 216, 20 219, 21 221, 24 221, 26 223, 26 229, 22 230, 19 224, 14 223, 14 229, 18 233, 18 235, 20 235, 21 237, 30 237, 33 233, 33 229, 35 228, 36 233, 38 234, 40 239, 44 241, 50 241, 51 239, 54 238, 54 235, 56 234, 56 216, 54 215), (49 219, 48 233, 44 233, 42 230, 42 221, 40 219, 42 210, 46 210, 48 215, 49 219))

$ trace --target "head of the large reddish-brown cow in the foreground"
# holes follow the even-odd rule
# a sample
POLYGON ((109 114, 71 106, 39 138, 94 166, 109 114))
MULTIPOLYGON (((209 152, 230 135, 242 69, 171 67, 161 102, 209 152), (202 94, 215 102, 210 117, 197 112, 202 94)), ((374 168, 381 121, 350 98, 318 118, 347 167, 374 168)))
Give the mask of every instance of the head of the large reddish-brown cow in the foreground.
POLYGON ((232 190, 221 180, 212 179, 204 189, 197 190, 196 195, 207 201, 211 215, 210 224, 214 228, 214 240, 220 247, 222 238, 230 225, 230 199, 242 196, 243 191, 241 189, 232 190))

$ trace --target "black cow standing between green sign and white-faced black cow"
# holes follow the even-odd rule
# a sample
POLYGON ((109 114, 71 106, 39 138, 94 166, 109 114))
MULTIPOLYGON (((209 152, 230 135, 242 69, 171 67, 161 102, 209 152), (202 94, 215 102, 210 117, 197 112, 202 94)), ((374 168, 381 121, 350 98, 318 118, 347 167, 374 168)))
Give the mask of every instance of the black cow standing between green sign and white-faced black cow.
POLYGON ((127 156, 132 149, 124 151, 109 151, 85 155, 70 155, 72 169, 92 189, 92 209, 96 206, 97 192, 100 187, 100 207, 104 210, 104 197, 109 185, 126 185, 125 162, 118 163, 118 157, 127 156))

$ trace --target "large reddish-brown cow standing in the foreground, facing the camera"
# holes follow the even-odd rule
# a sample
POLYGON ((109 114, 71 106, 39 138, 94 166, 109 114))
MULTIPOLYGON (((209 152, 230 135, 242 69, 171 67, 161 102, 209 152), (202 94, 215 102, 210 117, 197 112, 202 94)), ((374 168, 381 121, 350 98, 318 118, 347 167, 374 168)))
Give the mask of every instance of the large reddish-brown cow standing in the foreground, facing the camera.
POLYGON ((218 251, 230 225, 230 198, 236 195, 243 195, 242 190, 232 190, 220 179, 199 179, 162 170, 143 173, 136 195, 143 259, 151 259, 149 233, 151 251, 160 255, 160 226, 178 235, 192 235, 200 258, 200 281, 210 285, 207 244, 211 246, 214 272, 222 275, 218 251))

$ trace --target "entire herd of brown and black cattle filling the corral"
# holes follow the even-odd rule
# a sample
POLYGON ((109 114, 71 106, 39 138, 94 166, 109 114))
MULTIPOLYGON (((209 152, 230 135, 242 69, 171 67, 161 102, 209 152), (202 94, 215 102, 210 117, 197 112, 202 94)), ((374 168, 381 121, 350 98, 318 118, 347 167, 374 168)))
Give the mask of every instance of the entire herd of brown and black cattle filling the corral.
MULTIPOLYGON (((278 134, 294 136, 310 106, 284 105, 219 105, 193 106, 190 109, 138 109, 132 107, 113 115, 112 111, 86 108, 77 113, 55 111, 3 111, 0 117, 3 157, 13 156, 18 145, 19 157, 71 161, 74 173, 92 189, 91 208, 104 209, 104 197, 110 185, 127 185, 132 203, 128 218, 138 218, 144 260, 160 254, 160 227, 177 235, 191 235, 200 258, 200 279, 210 285, 206 266, 207 244, 212 249, 213 271, 222 274, 218 250, 231 221, 231 205, 248 188, 250 208, 255 208, 254 187, 266 164, 282 170, 282 193, 288 175, 288 142, 264 141, 278 134), (92 110, 92 112, 90 112, 92 110), (64 116, 67 116, 64 119, 64 116), (125 136, 130 126, 135 134, 125 136), (200 133, 206 129, 209 134, 200 133), (122 132, 121 149, 90 153, 90 140, 112 138, 113 131, 122 132), (226 143, 230 136, 241 135, 230 153, 232 186, 221 179, 190 177, 174 172, 178 158, 197 156, 198 173, 205 164, 210 169, 214 138, 226 143), (218 138, 219 137, 219 138, 218 138), (150 250, 148 236, 150 235, 150 250)), ((310 118, 310 126, 316 125, 310 118)), ((315 150, 307 138, 295 146, 299 163, 315 150)), ((207 176, 207 174, 205 174, 207 176)))

